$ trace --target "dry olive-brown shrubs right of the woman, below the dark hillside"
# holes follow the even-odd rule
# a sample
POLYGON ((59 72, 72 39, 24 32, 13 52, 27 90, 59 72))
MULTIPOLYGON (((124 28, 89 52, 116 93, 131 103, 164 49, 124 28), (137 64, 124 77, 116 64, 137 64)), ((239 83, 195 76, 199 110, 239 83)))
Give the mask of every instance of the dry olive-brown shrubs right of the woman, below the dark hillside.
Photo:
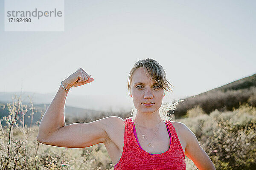
MULTIPOLYGON (((215 110, 209 116, 177 121, 195 133, 217 170, 256 169, 256 108, 244 104, 233 112, 215 110)), ((192 161, 187 164, 196 170, 192 161)))

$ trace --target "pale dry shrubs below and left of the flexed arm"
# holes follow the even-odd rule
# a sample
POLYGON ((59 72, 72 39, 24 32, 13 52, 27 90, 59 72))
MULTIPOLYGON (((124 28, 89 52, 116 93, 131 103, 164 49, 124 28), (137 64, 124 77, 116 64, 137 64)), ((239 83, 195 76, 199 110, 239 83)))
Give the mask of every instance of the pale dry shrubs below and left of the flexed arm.
MULTIPOLYGON (((13 98, 14 99, 14 98, 13 98)), ((27 127, 24 117, 31 110, 29 118, 33 119, 35 109, 22 105, 21 96, 17 102, 7 103, 9 115, 2 119, 6 127, 0 124, 0 169, 4 170, 113 170, 113 164, 104 144, 87 148, 65 148, 41 144, 36 140, 38 126, 27 127), (21 119, 17 116, 22 113, 21 119), (21 125, 17 124, 20 122, 21 125)), ((45 109, 46 110, 46 109, 45 109)), ((41 111, 41 118, 44 114, 41 111)), ((41 118, 36 122, 39 125, 41 118)), ((1 118, 0 118, 1 119, 1 118)))

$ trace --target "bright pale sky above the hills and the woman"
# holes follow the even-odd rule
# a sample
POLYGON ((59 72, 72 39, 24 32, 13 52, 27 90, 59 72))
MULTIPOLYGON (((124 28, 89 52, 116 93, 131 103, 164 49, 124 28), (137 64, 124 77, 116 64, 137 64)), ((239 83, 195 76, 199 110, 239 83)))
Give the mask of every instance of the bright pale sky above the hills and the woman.
POLYGON ((76 95, 127 96, 139 59, 156 59, 193 96, 256 73, 256 1, 65 0, 65 31, 4 31, 0 1, 0 91, 56 93, 79 68, 94 82, 76 95))

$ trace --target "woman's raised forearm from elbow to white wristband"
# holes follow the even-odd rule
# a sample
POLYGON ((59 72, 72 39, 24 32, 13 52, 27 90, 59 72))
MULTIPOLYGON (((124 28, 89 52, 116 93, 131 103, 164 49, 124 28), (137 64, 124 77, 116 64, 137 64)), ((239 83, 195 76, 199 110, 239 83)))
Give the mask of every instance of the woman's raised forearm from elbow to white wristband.
MULTIPOLYGON (((68 87, 64 82, 63 85, 65 88, 70 89, 70 87, 68 87)), ((57 94, 47 108, 40 122, 38 139, 46 138, 50 133, 55 132, 65 125, 64 106, 67 94, 68 91, 60 85, 57 94)))

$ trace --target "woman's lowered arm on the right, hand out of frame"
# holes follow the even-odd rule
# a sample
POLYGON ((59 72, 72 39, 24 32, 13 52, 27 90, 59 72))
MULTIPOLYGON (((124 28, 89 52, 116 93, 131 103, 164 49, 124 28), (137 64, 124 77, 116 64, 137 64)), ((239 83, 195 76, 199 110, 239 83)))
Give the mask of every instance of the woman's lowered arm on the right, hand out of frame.
POLYGON ((194 162, 199 170, 215 170, 211 159, 200 146, 195 134, 185 124, 181 124, 183 138, 186 141, 185 155, 194 162))

